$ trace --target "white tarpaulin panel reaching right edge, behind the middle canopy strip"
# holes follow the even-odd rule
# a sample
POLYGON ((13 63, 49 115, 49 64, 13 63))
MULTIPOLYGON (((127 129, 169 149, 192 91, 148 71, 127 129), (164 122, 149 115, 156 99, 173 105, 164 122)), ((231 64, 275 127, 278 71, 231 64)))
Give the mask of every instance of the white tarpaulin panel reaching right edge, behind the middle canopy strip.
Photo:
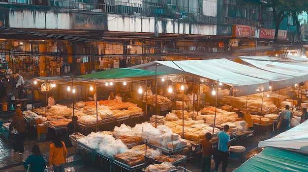
POLYGON ((294 76, 296 83, 308 80, 308 68, 305 66, 270 61, 257 61, 248 59, 242 60, 266 71, 294 76))

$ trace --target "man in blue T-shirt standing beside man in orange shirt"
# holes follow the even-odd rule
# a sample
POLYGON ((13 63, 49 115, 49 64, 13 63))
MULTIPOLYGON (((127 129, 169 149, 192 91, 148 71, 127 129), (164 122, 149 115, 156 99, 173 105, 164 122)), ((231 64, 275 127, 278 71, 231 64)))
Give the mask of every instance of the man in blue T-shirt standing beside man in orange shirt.
POLYGON ((222 172, 226 172, 228 160, 229 160, 229 147, 230 147, 230 136, 227 134, 229 130, 229 125, 223 127, 223 131, 218 133, 218 157, 215 162, 214 172, 217 172, 222 161, 222 172))

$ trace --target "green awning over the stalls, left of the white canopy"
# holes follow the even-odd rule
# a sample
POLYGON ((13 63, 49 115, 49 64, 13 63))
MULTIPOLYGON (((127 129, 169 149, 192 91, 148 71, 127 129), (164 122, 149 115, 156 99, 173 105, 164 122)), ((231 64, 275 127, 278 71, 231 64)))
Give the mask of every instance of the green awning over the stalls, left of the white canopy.
MULTIPOLYGON (((163 75, 163 72, 157 72, 157 75, 163 75)), ((141 69, 115 68, 111 70, 101 71, 93 74, 84 74, 77 77, 88 79, 120 79, 120 78, 139 78, 155 76, 154 71, 146 71, 141 69)))

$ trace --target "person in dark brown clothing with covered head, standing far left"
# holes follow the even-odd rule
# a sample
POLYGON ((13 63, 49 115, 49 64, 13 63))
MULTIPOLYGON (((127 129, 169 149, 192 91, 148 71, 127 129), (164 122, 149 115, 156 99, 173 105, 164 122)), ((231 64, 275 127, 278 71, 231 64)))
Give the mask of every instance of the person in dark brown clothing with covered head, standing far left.
POLYGON ((9 125, 10 133, 12 134, 13 149, 20 155, 24 152, 24 137, 26 135, 26 123, 20 110, 20 104, 17 104, 15 115, 9 125))

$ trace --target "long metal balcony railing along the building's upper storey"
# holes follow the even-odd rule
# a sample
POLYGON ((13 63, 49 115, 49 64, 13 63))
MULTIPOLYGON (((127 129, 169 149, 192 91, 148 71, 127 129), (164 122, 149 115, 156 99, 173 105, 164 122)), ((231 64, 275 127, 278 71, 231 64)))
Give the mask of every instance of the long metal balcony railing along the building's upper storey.
MULTIPOLYGON (((3 1, 3 0, 0 0, 3 1)), ((216 23, 216 17, 203 15, 199 0, 6 0, 29 4, 115 14, 141 15, 202 23, 216 23)))

